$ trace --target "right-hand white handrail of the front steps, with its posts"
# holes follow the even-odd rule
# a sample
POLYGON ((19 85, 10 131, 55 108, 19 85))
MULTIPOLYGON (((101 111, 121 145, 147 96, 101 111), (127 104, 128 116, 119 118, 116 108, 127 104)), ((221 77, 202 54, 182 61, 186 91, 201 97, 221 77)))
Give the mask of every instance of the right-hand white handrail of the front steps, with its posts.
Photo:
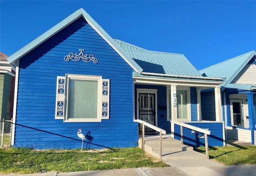
MULTIPOLYGON (((183 144, 183 127, 185 128, 189 128, 191 130, 195 130, 195 131, 198 131, 198 132, 201 132, 201 133, 204 133, 204 140, 205 140, 205 152, 206 152, 206 156, 207 158, 209 159, 209 149, 208 149, 208 136, 207 135, 210 135, 211 134, 211 131, 209 130, 205 130, 203 128, 199 128, 199 127, 196 127, 196 126, 192 126, 190 124, 186 124, 186 123, 182 123, 182 122, 177 122, 177 121, 170 121, 171 123, 173 124, 177 124, 180 126, 180 139, 181 139, 181 142, 183 144)), ((171 132, 172 134, 174 134, 174 129, 171 129, 171 132)))

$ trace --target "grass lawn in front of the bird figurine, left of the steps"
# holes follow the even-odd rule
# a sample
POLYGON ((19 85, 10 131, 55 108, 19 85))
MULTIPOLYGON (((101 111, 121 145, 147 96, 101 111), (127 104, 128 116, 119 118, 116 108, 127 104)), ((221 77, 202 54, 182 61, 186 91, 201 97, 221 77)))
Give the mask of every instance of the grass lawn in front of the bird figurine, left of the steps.
POLYGON ((0 173, 75 172, 139 167, 168 167, 140 148, 104 150, 0 149, 0 173))

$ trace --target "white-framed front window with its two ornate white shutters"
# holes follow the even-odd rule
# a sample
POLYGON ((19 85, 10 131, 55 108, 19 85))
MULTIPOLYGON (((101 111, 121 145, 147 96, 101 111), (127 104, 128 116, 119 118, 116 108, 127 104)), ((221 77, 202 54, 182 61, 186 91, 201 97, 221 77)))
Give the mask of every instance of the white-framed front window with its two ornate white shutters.
POLYGON ((66 74, 57 78, 56 119, 100 122, 109 118, 109 80, 66 74))

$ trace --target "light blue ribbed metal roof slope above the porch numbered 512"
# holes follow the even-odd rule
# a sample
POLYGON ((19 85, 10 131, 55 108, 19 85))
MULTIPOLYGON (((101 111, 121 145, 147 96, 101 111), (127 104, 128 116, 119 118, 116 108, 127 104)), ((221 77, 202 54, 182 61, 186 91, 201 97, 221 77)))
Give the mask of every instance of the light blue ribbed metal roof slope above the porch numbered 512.
POLYGON ((183 76, 202 76, 183 54, 125 50, 143 72, 183 76))

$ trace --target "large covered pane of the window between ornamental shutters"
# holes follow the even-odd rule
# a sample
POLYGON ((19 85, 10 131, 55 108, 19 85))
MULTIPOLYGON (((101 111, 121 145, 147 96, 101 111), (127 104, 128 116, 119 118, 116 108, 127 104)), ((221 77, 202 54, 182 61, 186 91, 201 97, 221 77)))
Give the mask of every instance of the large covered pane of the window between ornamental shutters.
POLYGON ((69 80, 68 118, 97 118, 98 81, 69 80))

